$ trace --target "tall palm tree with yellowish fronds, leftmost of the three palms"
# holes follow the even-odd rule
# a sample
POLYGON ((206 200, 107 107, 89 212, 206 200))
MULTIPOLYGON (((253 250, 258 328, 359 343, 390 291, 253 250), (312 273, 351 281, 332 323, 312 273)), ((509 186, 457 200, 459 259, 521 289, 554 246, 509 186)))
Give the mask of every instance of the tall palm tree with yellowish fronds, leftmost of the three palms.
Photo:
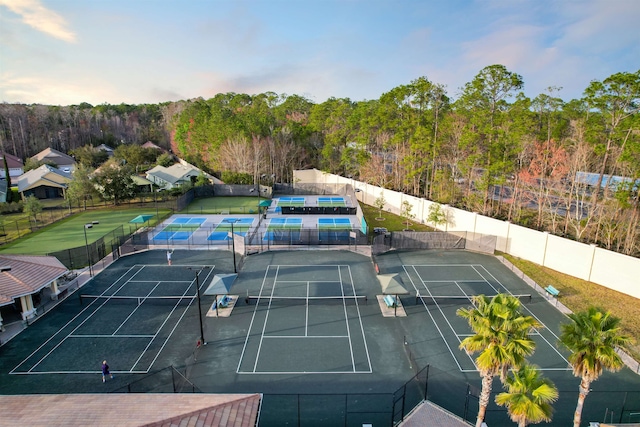
POLYGON ((482 377, 476 427, 484 421, 493 378, 500 375, 504 382, 510 368, 519 367, 525 357, 533 354, 536 343, 529 332, 542 325, 531 316, 520 312, 520 300, 514 296, 498 294, 492 298, 477 295, 473 307, 460 308, 457 315, 467 319, 474 334, 460 343, 468 353, 480 352, 476 365, 482 377))

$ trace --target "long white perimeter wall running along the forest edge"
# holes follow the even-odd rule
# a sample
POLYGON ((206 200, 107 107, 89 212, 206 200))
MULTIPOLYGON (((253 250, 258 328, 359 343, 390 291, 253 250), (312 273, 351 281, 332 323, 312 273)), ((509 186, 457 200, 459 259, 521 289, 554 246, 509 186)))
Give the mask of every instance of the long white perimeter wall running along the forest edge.
MULTIPOLYGON (((360 190, 356 192, 358 200, 371 206, 382 194, 386 202, 384 210, 398 215, 402 210, 402 202, 406 200, 412 205, 411 213, 415 215, 415 221, 424 224, 427 223, 429 206, 433 203, 316 169, 294 171, 293 177, 294 183, 351 184, 354 189, 360 190)), ((496 249, 501 252, 640 298, 640 259, 475 212, 449 206, 445 206, 445 210, 449 221, 439 227, 444 231, 471 231, 497 236, 496 249)))

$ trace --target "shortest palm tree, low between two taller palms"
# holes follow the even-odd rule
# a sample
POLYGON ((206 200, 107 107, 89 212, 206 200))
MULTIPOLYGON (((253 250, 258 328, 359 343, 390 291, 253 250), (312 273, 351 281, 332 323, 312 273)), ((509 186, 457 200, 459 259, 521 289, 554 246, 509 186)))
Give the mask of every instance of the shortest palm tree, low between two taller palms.
POLYGON ((507 407, 518 427, 551 421, 551 404, 558 400, 558 389, 542 376, 537 366, 524 365, 513 371, 505 381, 505 388, 507 391, 496 396, 496 403, 507 407))

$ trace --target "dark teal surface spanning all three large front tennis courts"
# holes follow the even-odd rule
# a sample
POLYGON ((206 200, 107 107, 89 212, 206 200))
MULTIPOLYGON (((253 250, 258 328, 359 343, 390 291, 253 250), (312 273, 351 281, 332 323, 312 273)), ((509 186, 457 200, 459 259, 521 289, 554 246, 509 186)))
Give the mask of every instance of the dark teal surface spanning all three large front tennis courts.
MULTIPOLYGON (((196 349, 196 286, 207 289, 214 275, 233 273, 232 253, 176 250, 170 267, 165 251, 123 257, 79 291, 93 298, 69 297, 0 347, 0 393, 122 392, 145 378, 148 392, 151 374, 174 366, 205 393, 264 393, 260 426, 298 425, 298 416, 305 426, 377 426, 391 424, 390 396, 429 365, 428 398, 473 420, 480 377, 473 357, 458 349, 470 331, 455 311, 472 295, 509 292, 522 295, 526 312, 545 325, 531 361, 560 390, 551 425, 571 424, 579 380, 556 343, 566 318, 544 296, 493 256, 394 251, 376 263, 409 291, 400 297, 405 317, 382 316, 370 257, 264 252, 244 259, 229 291, 237 297, 230 316, 202 317, 206 345, 196 349), (104 359, 116 372, 106 384, 104 359)), ((203 314, 213 299, 201 295, 203 314)), ((640 379, 628 369, 605 373, 592 389, 585 425, 605 416, 634 421, 640 413, 640 379)), ((496 380, 494 394, 500 391, 496 380)), ((513 425, 494 403, 486 421, 513 425)))

